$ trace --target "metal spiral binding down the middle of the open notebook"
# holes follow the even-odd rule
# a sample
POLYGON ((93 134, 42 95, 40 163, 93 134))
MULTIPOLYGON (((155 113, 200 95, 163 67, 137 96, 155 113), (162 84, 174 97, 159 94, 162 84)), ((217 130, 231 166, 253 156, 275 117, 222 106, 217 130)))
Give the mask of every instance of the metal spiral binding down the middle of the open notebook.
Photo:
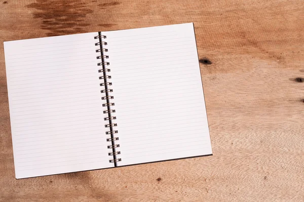
POLYGON ((111 142, 111 145, 107 146, 107 148, 111 148, 112 152, 108 153, 108 156, 113 156, 112 160, 109 160, 109 163, 114 163, 114 166, 117 167, 117 162, 122 161, 122 159, 118 158, 117 155, 120 155, 121 152, 116 149, 120 147, 119 144, 115 143, 115 140, 119 140, 118 137, 114 137, 115 134, 118 133, 118 130, 114 130, 113 127, 117 126, 116 123, 113 123, 113 120, 116 119, 116 116, 112 116, 112 113, 115 113, 115 110, 111 109, 111 106, 115 106, 114 103, 110 103, 110 99, 113 99, 114 96, 109 95, 110 92, 113 92, 113 89, 109 89, 108 87, 112 85, 111 82, 108 82, 108 79, 111 79, 111 76, 106 75, 107 72, 110 72, 110 69, 107 69, 106 66, 110 65, 109 62, 105 62, 104 59, 109 58, 103 54, 103 52, 108 52, 107 48, 104 48, 104 45, 107 45, 107 42, 102 41, 102 39, 106 38, 105 35, 101 35, 101 32, 98 32, 98 36, 95 36, 94 39, 99 39, 99 42, 95 43, 95 45, 99 46, 99 49, 96 49, 96 53, 100 52, 100 56, 97 56, 96 59, 101 60, 101 62, 97 63, 97 66, 101 66, 102 69, 99 69, 98 72, 102 73, 99 76, 103 82, 100 83, 100 86, 104 86, 103 90, 100 90, 101 93, 104 93, 105 96, 102 96, 101 99, 105 100, 106 103, 102 104, 102 107, 106 107, 106 110, 103 111, 103 114, 107 114, 108 116, 104 118, 104 121, 108 121, 108 124, 105 124, 104 127, 108 128, 109 131, 106 131, 106 135, 110 135, 109 138, 106 138, 106 141, 111 142))

